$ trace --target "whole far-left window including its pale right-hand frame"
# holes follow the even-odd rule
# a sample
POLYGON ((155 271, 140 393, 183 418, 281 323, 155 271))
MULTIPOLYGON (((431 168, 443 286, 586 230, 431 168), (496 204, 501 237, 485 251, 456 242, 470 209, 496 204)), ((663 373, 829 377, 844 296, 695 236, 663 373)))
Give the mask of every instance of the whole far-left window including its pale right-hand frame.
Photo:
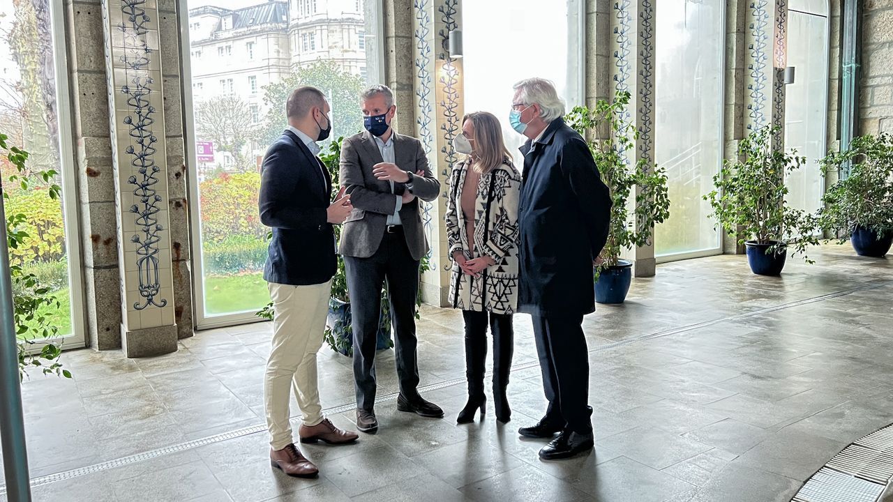
MULTIPOLYGON (((83 303, 80 296, 77 205, 74 197, 71 121, 68 106, 67 64, 63 42, 63 4, 55 0, 22 0, 0 4, 0 132, 14 146, 30 154, 25 163, 31 187, 11 183, 18 175, 12 163, 0 159, 6 215, 24 213, 15 230, 28 234, 25 245, 10 252, 11 264, 33 273, 50 289, 61 306, 43 307, 39 314, 59 328, 63 345, 83 346, 83 303), (46 183, 37 172, 60 173, 62 200, 47 197, 46 183)), ((22 291, 16 291, 17 293, 22 291)), ((32 291, 33 293, 33 291, 32 291)))

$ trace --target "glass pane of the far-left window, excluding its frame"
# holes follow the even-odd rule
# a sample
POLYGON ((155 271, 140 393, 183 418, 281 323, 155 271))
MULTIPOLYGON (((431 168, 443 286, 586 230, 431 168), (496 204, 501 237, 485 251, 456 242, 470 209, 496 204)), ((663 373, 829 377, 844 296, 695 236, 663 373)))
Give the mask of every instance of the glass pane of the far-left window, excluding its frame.
MULTIPOLYGON (((54 170, 63 172, 60 121, 56 101, 56 75, 51 4, 48 0, 24 0, 0 4, 0 132, 13 146, 29 152, 26 175, 54 170)), ((47 196, 46 183, 32 177, 23 190, 10 183, 18 175, 12 163, 0 159, 6 215, 24 213, 27 221, 16 227, 28 233, 24 246, 10 251, 11 263, 33 273, 50 288, 61 306, 38 311, 59 328, 60 335, 74 333, 71 322, 69 252, 63 200, 47 196)), ((63 186, 61 175, 52 183, 63 186)), ((79 333, 83 335, 83 333, 79 333)))

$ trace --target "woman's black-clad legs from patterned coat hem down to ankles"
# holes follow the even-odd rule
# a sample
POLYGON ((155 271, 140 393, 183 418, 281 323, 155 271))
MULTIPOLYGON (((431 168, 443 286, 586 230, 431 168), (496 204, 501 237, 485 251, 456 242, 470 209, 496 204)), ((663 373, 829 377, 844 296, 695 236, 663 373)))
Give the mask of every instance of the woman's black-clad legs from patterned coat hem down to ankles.
POLYGON ((463 310, 465 319, 465 365, 469 383, 469 396, 483 395, 483 379, 487 361, 487 324, 493 333, 493 387, 494 397, 501 399, 497 390, 508 386, 514 352, 514 327, 512 314, 493 314, 463 310))

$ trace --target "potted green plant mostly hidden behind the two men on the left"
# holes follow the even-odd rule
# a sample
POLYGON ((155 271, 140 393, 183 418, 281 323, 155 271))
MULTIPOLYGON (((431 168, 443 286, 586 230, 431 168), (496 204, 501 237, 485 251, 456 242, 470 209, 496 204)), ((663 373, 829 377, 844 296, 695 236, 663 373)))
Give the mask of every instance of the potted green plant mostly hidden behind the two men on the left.
MULTIPOLYGON (((341 142, 344 138, 338 138, 332 141, 328 148, 320 153, 320 160, 325 164, 326 169, 332 179, 332 197, 338 194, 338 175, 339 164, 341 160, 341 142)), ((335 225, 335 238, 341 238, 341 225, 335 225)), ((428 256, 421 259, 421 273, 430 270, 430 261, 428 256)), ((421 295, 416 299, 416 319, 419 318, 418 306, 421 305, 421 295)), ((263 310, 257 313, 259 317, 265 319, 273 318, 272 303, 263 307, 263 310)), ((379 332, 376 347, 379 350, 394 347, 394 341, 391 339, 391 318, 390 303, 388 302, 387 286, 381 291, 381 314, 379 318, 379 332)), ((323 339, 331 347, 332 350, 344 356, 353 356, 354 354, 354 332, 351 327, 350 314, 350 297, 347 292, 347 275, 344 267, 344 260, 338 255, 338 269, 335 276, 332 277, 331 297, 329 299, 329 316, 326 320, 326 330, 323 339)))

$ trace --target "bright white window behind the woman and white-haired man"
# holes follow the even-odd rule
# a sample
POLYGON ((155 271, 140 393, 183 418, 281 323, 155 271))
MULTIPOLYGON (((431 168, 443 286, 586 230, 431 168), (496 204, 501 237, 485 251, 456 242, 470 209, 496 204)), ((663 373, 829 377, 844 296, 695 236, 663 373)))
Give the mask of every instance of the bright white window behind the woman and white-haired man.
POLYGON ((462 6, 465 112, 486 111, 499 118, 519 169, 523 159, 517 148, 527 138, 508 124, 513 84, 543 77, 555 82, 568 110, 583 101, 581 2, 555 4, 544 9, 539 0, 488 0, 462 6))

